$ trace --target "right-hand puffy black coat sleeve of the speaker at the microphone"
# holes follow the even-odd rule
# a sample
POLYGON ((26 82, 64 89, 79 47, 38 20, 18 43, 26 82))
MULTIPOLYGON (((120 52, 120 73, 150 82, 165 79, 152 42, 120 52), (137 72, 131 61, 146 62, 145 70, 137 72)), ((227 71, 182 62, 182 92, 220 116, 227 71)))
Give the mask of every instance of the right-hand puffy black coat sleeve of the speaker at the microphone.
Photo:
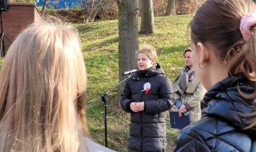
POLYGON ((168 77, 164 77, 159 90, 159 98, 145 102, 146 113, 162 113, 170 110, 174 105, 172 83, 168 77))

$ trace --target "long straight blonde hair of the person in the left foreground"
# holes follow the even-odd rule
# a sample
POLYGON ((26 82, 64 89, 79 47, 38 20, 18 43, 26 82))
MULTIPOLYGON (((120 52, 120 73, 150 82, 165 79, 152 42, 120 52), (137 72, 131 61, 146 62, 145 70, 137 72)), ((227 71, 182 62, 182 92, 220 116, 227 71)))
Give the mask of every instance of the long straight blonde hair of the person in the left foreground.
POLYGON ((40 23, 21 32, 0 83, 0 151, 83 151, 86 69, 71 26, 40 23))

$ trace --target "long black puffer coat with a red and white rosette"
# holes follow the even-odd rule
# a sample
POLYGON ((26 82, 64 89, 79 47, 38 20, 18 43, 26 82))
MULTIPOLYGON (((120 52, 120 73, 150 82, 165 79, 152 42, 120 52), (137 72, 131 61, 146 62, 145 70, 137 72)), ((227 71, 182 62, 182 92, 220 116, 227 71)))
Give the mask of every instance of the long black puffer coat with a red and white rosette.
POLYGON ((166 113, 174 104, 172 83, 159 64, 131 75, 121 95, 122 109, 131 113, 128 151, 164 151, 166 113), (150 84, 149 91, 145 89, 150 84), (131 111, 131 102, 145 102, 145 110, 131 111))

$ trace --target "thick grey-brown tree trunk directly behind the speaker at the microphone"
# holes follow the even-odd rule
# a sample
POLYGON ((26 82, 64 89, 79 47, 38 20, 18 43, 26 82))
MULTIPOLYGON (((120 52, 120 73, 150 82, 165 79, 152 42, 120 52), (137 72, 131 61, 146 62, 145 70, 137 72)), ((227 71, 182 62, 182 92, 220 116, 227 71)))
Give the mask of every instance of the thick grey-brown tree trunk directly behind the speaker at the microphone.
MULTIPOLYGON (((135 51, 138 50, 138 0, 118 0, 118 30, 118 66, 121 82, 127 77, 123 76, 122 72, 137 67, 135 51)), ((118 86, 118 104, 124 86, 125 82, 118 86)))

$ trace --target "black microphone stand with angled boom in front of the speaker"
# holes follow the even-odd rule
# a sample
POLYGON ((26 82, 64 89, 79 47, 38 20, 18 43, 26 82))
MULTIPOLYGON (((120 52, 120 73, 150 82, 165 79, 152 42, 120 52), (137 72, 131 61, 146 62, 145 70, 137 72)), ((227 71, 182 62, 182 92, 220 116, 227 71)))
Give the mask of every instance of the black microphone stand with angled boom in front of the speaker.
MULTIPOLYGON (((128 77, 126 77, 125 79, 122 80, 122 82, 125 82, 125 80, 129 79, 129 77, 131 77, 131 73, 129 73, 128 77)), ((116 86, 118 86, 119 84, 122 84, 122 82, 119 82, 118 84, 116 84, 116 86)), ((107 102, 109 101, 109 95, 108 93, 110 91, 113 90, 113 88, 116 88, 116 86, 113 86, 112 88, 109 88, 108 91, 105 91, 104 93, 102 93, 102 95, 100 95, 100 97, 98 97, 97 99, 95 99, 93 102, 91 102, 88 106, 86 106, 86 108, 89 108, 92 104, 94 104, 94 102, 97 102, 98 99, 102 99, 102 102, 104 102, 104 127, 105 127, 105 146, 107 147, 107 102)))

